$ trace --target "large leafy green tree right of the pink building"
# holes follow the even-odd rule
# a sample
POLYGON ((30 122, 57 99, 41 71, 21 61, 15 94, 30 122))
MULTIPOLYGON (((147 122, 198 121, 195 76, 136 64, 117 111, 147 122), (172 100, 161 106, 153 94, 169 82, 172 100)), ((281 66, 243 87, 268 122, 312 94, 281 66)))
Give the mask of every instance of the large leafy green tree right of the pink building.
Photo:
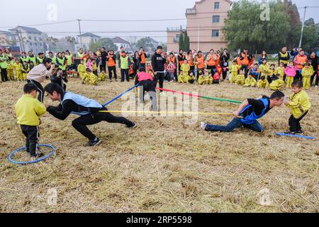
POLYGON ((286 45, 291 31, 291 16, 281 1, 269 2, 269 20, 262 20, 259 1, 236 1, 228 11, 223 34, 231 51, 249 48, 250 52, 277 52, 286 45))

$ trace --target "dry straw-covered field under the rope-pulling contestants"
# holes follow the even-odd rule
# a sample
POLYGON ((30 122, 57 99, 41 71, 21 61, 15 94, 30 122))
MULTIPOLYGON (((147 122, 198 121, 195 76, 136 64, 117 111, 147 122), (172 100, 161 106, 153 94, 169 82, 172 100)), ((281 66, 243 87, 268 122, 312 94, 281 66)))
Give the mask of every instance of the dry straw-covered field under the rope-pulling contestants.
MULTIPOLYGON (((86 87, 70 79, 68 89, 104 103, 132 86, 103 82, 86 87)), ((235 100, 271 94, 228 82, 165 87, 235 100)), ((130 117, 138 123, 134 130, 103 122, 91 127, 102 140, 96 148, 84 147, 86 139, 71 126, 74 116, 58 121, 46 114, 40 142, 54 145, 57 152, 44 162, 20 166, 11 164, 8 155, 24 143, 13 108, 22 88, 23 82, 0 84, 1 212, 319 211, 319 143, 274 135, 288 129, 284 106, 262 118, 264 133, 208 133, 199 128, 201 121, 225 124, 230 116, 199 116, 193 125, 185 123, 189 116, 130 117), (50 203, 52 189, 56 203, 50 203), (260 204, 263 189, 269 190, 269 206, 260 204)), ((308 93, 313 108, 302 125, 308 135, 319 137, 319 89, 308 93)), ((122 105, 120 99, 109 109, 121 110, 122 105)), ((198 103, 202 112, 232 113, 236 107, 206 99, 198 103)), ((19 156, 26 158, 25 153, 19 156)))

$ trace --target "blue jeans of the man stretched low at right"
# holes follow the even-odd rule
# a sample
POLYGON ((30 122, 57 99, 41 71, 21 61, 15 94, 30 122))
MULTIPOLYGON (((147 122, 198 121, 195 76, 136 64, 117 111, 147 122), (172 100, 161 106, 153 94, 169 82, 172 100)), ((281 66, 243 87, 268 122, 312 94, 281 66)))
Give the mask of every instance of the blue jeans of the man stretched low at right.
POLYGON ((220 131, 230 133, 235 128, 241 128, 242 126, 244 126, 245 128, 249 128, 252 131, 257 131, 259 133, 262 133, 264 131, 264 128, 258 121, 251 125, 247 125, 245 123, 242 123, 242 121, 240 121, 240 118, 233 118, 233 121, 230 121, 230 123, 228 123, 227 126, 207 125, 206 131, 220 131))

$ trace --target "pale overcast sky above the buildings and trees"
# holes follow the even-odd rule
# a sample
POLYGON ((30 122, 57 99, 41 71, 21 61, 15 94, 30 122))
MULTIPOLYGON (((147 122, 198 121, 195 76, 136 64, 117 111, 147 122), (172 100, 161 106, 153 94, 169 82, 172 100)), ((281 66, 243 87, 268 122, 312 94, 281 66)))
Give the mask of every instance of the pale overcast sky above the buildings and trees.
MULTIPOLYGON (((0 31, 6 31, 15 26, 30 26, 42 23, 71 21, 76 19, 97 20, 145 20, 185 18, 185 9, 194 6, 195 0, 0 0, 1 18, 0 31), (57 21, 50 21, 50 4, 57 6, 57 21), (10 9, 10 10, 9 10, 10 9)), ((293 0, 298 7, 319 6, 318 0, 293 0)), ((299 9, 301 17, 303 9, 299 9)), ((313 17, 319 22, 318 9, 308 9, 306 18, 313 17)), ((51 18, 52 19, 52 18, 51 18)), ((141 38, 150 35, 156 40, 165 41, 167 27, 186 26, 186 20, 181 21, 147 21, 147 22, 92 22, 82 21, 82 33, 93 32, 103 37, 141 38), (108 31, 152 31, 150 33, 106 33, 108 31), (155 32, 157 31, 157 32, 155 32)), ((50 26, 33 26, 48 35, 62 37, 77 35, 79 28, 76 21, 50 26)))

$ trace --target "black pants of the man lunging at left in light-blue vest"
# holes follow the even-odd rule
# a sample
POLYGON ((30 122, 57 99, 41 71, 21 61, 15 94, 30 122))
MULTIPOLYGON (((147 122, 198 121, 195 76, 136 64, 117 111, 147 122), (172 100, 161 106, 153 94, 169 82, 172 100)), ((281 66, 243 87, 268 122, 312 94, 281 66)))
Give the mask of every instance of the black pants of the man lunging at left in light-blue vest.
MULTIPOLYGON (((103 110, 106 111, 107 109, 105 108, 103 110)), ((92 114, 80 116, 72 121, 72 126, 89 140, 94 140, 96 135, 94 135, 86 126, 92 126, 101 121, 107 121, 108 123, 123 123, 129 127, 134 125, 132 121, 128 121, 128 119, 123 117, 113 116, 110 113, 97 113, 94 116, 92 116, 92 114)))

